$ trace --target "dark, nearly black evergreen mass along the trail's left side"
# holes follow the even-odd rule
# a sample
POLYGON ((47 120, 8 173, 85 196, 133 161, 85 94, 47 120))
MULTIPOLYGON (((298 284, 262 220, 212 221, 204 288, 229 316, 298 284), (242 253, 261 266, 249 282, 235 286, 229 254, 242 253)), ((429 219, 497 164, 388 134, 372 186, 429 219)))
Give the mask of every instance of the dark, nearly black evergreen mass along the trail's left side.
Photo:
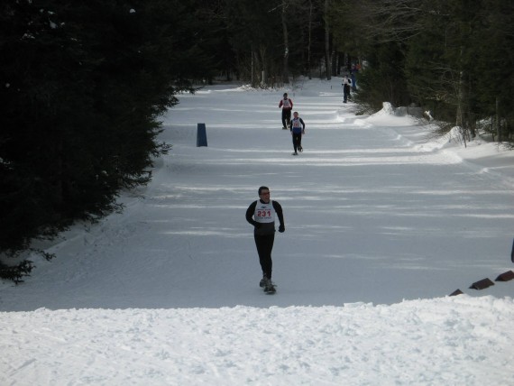
POLYGON ((147 183, 169 150, 159 116, 215 66, 208 23, 179 1, 0 6, 0 253, 15 257, 147 183))

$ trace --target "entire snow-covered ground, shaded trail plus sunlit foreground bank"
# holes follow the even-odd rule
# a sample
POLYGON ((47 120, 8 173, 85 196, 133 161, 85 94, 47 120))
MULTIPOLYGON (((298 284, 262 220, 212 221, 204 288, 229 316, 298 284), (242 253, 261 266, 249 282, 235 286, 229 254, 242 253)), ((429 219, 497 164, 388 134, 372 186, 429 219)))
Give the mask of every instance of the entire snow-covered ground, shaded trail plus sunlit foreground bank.
POLYGON ((355 115, 342 94, 334 78, 181 95, 162 118, 173 148, 124 213, 0 283, 0 384, 514 385, 514 280, 469 288, 513 269, 512 152, 355 115), (261 185, 286 222, 275 295, 244 219, 261 185))

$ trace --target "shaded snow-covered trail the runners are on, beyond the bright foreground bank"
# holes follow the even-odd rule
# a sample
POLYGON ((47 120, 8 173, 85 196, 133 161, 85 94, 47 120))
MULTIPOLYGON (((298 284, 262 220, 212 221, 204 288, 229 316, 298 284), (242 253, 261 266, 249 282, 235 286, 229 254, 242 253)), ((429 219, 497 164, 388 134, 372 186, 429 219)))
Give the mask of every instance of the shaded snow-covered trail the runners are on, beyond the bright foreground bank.
MULTIPOLYGON (((338 80, 291 92, 307 124, 292 157, 281 91, 209 87, 165 117, 173 144, 122 215, 50 249, 3 310, 322 306, 441 297, 511 268, 511 186, 454 152, 402 135, 409 117, 353 115, 338 80), (197 123, 207 147, 196 147, 197 123), (263 297, 244 220, 257 188, 286 218, 275 240, 277 297, 263 297)), ((503 283, 483 294, 511 295, 503 283)))

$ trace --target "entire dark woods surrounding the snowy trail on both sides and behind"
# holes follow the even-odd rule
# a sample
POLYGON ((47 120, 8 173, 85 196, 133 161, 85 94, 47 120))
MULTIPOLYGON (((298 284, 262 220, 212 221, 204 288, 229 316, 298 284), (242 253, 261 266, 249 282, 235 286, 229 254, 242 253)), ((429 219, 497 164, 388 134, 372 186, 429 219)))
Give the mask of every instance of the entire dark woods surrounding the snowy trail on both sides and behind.
POLYGON ((199 84, 293 87, 354 64, 363 111, 420 106, 464 141, 511 142, 513 16, 502 0, 6 0, 0 276, 21 280, 33 240, 148 183, 171 146, 160 115, 199 84))

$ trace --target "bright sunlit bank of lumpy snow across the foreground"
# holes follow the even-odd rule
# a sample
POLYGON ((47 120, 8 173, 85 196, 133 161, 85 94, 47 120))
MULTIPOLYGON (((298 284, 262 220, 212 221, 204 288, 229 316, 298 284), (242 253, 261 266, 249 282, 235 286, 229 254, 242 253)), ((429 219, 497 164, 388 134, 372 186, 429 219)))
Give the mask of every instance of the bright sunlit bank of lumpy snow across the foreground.
POLYGON ((0 313, 0 383, 512 384, 512 299, 0 313), (77 332, 80 332, 78 334, 77 332))

